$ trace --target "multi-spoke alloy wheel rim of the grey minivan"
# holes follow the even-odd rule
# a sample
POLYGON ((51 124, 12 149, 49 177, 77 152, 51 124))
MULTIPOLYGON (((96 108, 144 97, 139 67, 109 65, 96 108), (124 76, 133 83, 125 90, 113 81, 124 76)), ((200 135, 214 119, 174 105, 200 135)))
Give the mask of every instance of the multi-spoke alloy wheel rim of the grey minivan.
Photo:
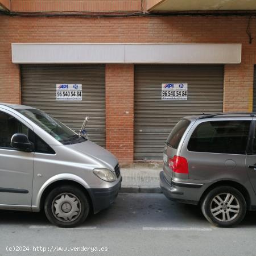
POLYGON ((210 212, 218 221, 232 221, 240 212, 240 204, 234 195, 221 193, 213 197, 210 203, 210 212))

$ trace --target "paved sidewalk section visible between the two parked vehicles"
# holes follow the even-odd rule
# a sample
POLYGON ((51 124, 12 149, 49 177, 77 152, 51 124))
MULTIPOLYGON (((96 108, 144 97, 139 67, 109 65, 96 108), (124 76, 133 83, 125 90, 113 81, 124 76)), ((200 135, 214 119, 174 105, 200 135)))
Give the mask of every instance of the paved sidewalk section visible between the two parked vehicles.
POLYGON ((121 167, 123 177, 121 192, 161 193, 160 171, 162 171, 162 163, 134 163, 121 167))

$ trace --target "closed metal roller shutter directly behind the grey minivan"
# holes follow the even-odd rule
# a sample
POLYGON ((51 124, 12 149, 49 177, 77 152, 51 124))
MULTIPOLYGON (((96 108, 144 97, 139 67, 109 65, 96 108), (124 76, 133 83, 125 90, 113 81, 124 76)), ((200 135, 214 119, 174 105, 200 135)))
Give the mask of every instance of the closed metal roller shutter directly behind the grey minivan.
POLYGON ((222 65, 135 65, 134 159, 160 160, 180 118, 223 111, 222 65), (161 100, 162 83, 188 83, 188 100, 161 100))

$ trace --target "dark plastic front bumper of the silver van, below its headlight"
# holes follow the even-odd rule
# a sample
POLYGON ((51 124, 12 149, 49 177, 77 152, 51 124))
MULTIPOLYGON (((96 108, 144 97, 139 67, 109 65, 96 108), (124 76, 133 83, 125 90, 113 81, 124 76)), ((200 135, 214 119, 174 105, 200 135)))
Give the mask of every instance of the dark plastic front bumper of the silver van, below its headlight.
POLYGON ((115 198, 121 189, 122 176, 117 184, 111 188, 91 188, 89 189, 90 198, 92 199, 93 212, 97 213, 108 208, 114 203, 115 198))

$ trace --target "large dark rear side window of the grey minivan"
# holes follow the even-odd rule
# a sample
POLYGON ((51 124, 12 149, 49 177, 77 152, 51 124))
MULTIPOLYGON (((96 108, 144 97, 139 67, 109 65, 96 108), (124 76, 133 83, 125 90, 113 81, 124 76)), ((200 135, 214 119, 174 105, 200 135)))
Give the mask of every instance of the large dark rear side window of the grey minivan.
POLYGON ((211 121, 200 123, 188 142, 196 152, 245 154, 251 121, 211 121))

